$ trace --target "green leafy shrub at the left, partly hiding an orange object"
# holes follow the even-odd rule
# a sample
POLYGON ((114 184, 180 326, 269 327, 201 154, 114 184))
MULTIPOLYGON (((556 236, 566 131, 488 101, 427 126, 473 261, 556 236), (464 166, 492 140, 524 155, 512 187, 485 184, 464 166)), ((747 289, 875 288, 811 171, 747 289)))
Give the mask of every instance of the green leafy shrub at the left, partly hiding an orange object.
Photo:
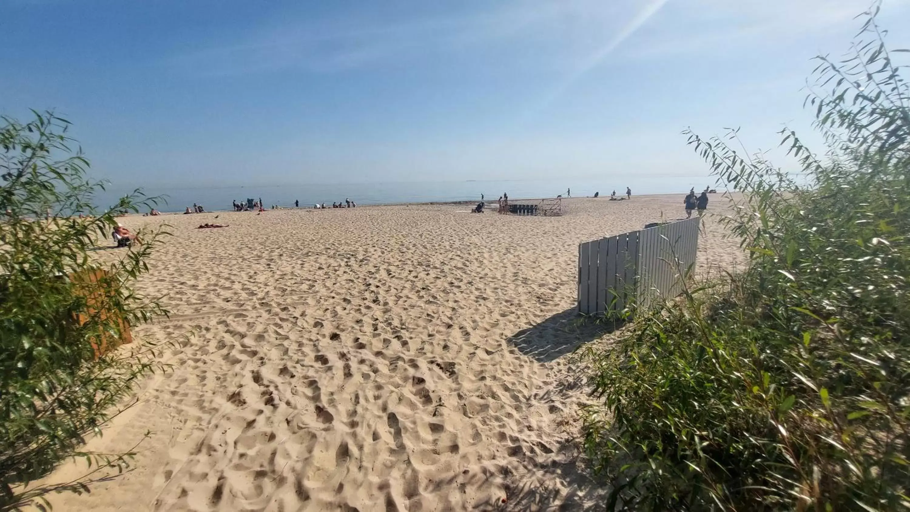
POLYGON ((148 271, 158 233, 143 234, 102 265, 96 240, 109 243, 115 213, 144 205, 136 191, 96 213, 86 180, 88 162, 72 154, 66 120, 35 113, 29 123, 0 124, 0 510, 35 502, 49 491, 82 491, 92 474, 72 482, 29 487, 67 457, 90 466, 126 465, 130 454, 80 452, 89 433, 128 407, 136 380, 155 366, 150 342, 97 357, 96 346, 164 313, 130 288, 148 271), (86 214, 85 218, 79 214, 86 214), (113 259, 113 258, 112 258, 113 259), (70 276, 104 269, 96 283, 70 276), (104 313, 101 313, 104 312, 104 313), (81 322, 77 321, 77 316, 81 322))

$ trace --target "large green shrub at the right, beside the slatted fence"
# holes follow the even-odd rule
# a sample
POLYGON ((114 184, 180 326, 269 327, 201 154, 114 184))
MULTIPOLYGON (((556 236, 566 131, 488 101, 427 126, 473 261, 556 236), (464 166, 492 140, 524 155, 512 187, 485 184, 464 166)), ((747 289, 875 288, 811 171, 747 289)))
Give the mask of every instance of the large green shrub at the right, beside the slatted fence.
POLYGON ((725 222, 749 265, 586 354, 609 508, 910 507, 910 95, 867 15, 871 41, 814 72, 827 154, 782 132, 808 185, 687 132, 743 192, 725 222))

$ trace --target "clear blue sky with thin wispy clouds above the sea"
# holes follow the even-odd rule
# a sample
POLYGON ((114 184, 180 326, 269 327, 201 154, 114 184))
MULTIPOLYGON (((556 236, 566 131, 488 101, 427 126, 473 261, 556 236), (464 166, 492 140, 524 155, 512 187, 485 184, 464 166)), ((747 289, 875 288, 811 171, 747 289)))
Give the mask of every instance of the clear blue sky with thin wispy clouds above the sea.
MULTIPOLYGON (((0 0, 0 112, 55 109, 126 186, 701 176, 682 128, 806 132, 867 7, 0 0)), ((910 3, 879 21, 910 46, 910 3)))

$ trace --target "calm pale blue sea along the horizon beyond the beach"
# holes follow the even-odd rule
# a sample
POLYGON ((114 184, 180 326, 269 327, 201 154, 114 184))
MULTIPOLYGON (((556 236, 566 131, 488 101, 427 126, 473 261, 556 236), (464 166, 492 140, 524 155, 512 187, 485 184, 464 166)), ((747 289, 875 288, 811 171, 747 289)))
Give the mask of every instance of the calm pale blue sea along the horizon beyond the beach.
MULTIPOLYGON (((274 185, 274 186, 206 186, 206 187, 160 187, 145 186, 148 196, 167 196, 167 204, 159 206, 162 212, 183 211, 194 203, 207 210, 229 210, 231 202, 246 201, 248 197, 262 198, 266 206, 300 206, 344 202, 350 199, 359 206, 387 205, 395 203, 436 203, 450 201, 480 201, 482 194, 487 201, 496 201, 503 192, 510 198, 539 198, 565 196, 571 188, 571 196, 593 196, 600 192, 610 196, 615 190, 624 194, 626 186, 632 187, 632 194, 685 194, 693 186, 701 190, 713 186, 713 178, 707 176, 624 176, 622 179, 548 179, 513 181, 440 181, 411 183, 370 183, 345 185, 274 185)), ((99 207, 116 204, 116 198, 132 191, 136 186, 108 187, 96 195, 99 207)))

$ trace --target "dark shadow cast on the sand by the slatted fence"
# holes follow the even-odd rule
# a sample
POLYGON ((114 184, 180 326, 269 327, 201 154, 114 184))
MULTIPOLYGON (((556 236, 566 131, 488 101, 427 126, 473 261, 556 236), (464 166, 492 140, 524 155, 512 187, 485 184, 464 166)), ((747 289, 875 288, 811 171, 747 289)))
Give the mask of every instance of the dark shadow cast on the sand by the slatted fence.
POLYGON ((509 336, 509 343, 525 356, 547 363, 621 326, 621 321, 598 322, 590 316, 579 315, 576 307, 570 307, 509 336))

